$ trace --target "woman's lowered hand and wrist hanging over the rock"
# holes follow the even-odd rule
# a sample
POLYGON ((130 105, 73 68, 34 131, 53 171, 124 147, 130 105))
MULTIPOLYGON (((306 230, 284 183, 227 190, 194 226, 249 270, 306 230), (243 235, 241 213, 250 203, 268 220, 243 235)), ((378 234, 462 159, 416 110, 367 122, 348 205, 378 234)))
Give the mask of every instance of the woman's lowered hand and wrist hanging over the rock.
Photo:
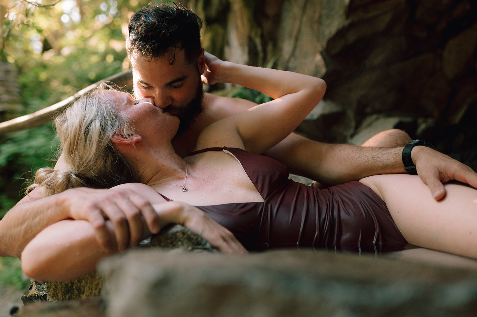
POLYGON ((170 223, 183 225, 190 231, 202 236, 223 253, 248 253, 230 231, 197 207, 173 201, 165 204, 155 204, 153 207, 159 215, 161 227, 170 223))

